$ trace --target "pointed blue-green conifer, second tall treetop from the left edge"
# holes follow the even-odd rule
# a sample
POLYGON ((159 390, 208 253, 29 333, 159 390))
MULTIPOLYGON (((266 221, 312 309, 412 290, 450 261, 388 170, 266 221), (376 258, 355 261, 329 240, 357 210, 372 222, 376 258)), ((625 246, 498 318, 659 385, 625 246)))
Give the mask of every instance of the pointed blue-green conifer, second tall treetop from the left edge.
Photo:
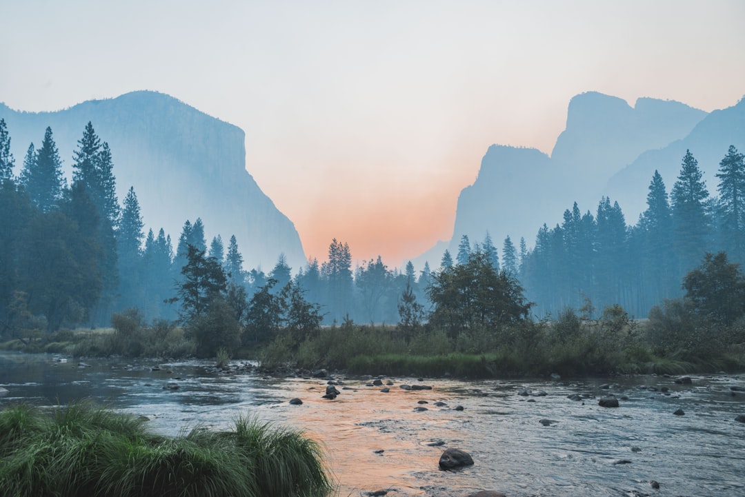
MULTIPOLYGON (((28 150, 32 152, 34 144, 28 150)), ((41 148, 33 157, 26 155, 21 171, 21 184, 28 191, 31 202, 42 212, 51 211, 62 197, 62 160, 50 127, 44 133, 41 148)))

